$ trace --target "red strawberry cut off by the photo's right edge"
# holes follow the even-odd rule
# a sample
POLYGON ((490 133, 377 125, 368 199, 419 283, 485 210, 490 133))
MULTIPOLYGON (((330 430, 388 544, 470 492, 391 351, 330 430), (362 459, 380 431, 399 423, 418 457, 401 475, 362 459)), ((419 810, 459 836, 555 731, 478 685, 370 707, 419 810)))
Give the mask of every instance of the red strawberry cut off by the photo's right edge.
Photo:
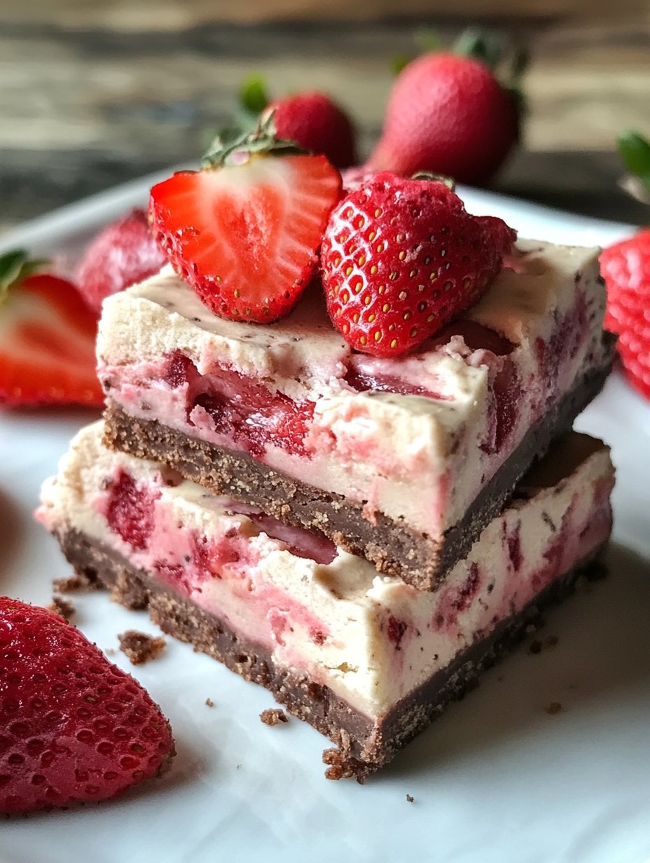
POLYGON ((650 228, 600 256, 607 285, 605 329, 618 334, 629 381, 650 399, 650 228))

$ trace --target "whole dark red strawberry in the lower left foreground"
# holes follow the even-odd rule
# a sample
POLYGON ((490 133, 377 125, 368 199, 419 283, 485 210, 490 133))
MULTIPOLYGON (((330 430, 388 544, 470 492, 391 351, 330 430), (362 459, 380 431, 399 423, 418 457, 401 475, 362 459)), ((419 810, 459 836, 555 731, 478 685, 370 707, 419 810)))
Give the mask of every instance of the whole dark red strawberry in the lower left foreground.
POLYGON ((107 800, 173 756, 139 683, 59 614, 0 597, 0 812, 107 800))

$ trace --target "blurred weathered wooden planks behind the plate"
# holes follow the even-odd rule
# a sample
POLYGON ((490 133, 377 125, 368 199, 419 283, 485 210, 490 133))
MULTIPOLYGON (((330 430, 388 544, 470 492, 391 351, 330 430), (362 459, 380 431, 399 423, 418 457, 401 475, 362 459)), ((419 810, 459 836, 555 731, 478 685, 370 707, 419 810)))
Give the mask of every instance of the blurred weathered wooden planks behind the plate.
MULTIPOLYGON (((9 9, 5 0, 0 8, 0 229, 195 159, 251 71, 265 73, 278 93, 331 91, 357 118, 366 154, 391 85, 387 60, 408 51, 425 22, 213 22, 165 17, 162 7, 158 20, 138 16, 137 3, 130 17, 93 16, 87 3, 85 14, 57 14, 71 0, 36 3, 36 15, 35 3, 9 9)), ((533 66, 525 142, 495 188, 647 220, 647 209, 616 186, 614 152, 621 129, 650 133, 647 21, 626 13, 615 22, 536 16, 506 25, 531 48, 533 66)), ((446 21, 442 30, 462 26, 446 21)))

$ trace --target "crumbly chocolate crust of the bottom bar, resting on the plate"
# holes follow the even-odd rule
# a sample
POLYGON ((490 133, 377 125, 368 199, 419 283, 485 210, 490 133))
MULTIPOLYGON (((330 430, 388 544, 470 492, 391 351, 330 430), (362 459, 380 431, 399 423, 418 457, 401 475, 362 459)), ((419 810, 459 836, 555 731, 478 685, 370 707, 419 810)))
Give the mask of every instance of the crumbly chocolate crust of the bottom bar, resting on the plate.
POLYGON ((503 620, 486 638, 460 653, 450 665, 390 710, 371 719, 354 709, 327 686, 300 672, 275 665, 265 647, 242 639, 223 620, 207 614, 167 585, 136 570, 123 557, 95 545, 84 534, 70 530, 58 536, 74 570, 102 583, 126 608, 148 608, 163 632, 194 646, 227 665, 246 680, 270 690, 287 710, 317 728, 338 745, 324 753, 329 778, 355 776, 363 782, 420 734, 453 701, 476 685, 476 678, 541 622, 541 611, 575 587, 579 576, 603 575, 600 548, 568 573, 549 584, 520 614, 503 620))

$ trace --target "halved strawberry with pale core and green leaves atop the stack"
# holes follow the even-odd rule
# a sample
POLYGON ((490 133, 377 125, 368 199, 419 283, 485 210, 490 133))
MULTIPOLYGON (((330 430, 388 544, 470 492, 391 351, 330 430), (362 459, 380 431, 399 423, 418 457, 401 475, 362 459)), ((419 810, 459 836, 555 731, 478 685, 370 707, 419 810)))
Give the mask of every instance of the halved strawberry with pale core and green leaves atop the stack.
POLYGON ((212 312, 270 323, 287 315, 312 277, 341 177, 323 155, 269 134, 268 123, 218 140, 200 171, 151 190, 154 236, 212 312))

